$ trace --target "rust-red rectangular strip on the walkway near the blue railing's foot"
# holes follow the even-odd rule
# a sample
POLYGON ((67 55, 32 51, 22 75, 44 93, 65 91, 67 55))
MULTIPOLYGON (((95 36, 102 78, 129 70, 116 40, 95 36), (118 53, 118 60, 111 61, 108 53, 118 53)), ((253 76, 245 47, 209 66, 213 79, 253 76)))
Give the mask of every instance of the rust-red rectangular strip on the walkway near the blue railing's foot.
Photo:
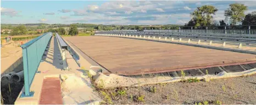
POLYGON ((59 78, 43 80, 39 104, 63 104, 59 78))

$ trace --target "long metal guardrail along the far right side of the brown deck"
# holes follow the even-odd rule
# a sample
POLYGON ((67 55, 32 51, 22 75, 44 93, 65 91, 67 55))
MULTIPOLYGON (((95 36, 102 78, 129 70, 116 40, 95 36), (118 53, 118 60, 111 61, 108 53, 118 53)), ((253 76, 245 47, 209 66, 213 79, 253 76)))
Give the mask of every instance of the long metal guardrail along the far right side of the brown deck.
POLYGON ((127 34, 141 36, 156 36, 156 37, 185 37, 194 39, 212 39, 212 40, 227 40, 233 43, 256 44, 256 34, 224 34, 224 33, 197 33, 197 32, 122 32, 122 31, 107 31, 97 32, 96 34, 127 34))

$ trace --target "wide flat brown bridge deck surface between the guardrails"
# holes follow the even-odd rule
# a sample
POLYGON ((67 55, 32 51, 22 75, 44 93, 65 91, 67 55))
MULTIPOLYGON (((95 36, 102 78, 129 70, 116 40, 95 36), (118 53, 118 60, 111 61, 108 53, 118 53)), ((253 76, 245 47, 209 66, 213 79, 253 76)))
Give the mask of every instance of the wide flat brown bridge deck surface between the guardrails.
POLYGON ((110 72, 122 75, 256 63, 253 54, 116 37, 64 37, 110 72))

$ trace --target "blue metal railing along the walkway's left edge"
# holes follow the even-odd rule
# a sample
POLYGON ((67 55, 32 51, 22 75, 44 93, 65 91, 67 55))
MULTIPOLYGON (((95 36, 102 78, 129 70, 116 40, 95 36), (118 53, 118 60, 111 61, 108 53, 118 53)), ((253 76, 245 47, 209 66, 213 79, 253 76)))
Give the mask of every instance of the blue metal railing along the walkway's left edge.
POLYGON ((25 93, 21 97, 30 97, 34 92, 30 91, 30 86, 34 79, 35 73, 38 72, 37 68, 40 65, 44 51, 52 38, 52 32, 47 32, 41 36, 30 40, 21 45, 23 52, 23 68, 24 68, 24 86, 25 93))

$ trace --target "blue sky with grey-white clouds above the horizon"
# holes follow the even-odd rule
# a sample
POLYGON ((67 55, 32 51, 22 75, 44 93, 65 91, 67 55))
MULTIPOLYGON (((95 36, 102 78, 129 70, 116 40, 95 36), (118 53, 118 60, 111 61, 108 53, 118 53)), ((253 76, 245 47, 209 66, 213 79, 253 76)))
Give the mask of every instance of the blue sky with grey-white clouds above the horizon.
POLYGON ((214 5, 214 20, 225 19, 231 3, 256 11, 256 1, 1 1, 1 24, 185 24, 202 5, 214 5))

